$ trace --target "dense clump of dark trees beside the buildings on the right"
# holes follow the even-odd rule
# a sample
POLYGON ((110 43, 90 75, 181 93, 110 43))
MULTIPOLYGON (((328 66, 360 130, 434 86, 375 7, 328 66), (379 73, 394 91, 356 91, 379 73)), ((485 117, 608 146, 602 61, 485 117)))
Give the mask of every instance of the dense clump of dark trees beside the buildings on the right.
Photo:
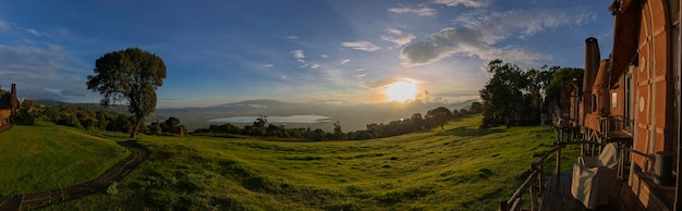
POLYGON ((546 96, 560 91, 565 79, 582 72, 560 66, 522 70, 502 60, 489 62, 492 77, 480 90, 483 127, 540 124, 546 96))

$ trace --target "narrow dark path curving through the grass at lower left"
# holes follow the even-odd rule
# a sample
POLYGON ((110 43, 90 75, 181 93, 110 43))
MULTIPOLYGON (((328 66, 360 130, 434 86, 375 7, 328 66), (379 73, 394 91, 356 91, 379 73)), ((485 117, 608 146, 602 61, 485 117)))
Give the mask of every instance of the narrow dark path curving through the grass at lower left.
POLYGON ((137 164, 147 159, 149 152, 146 149, 139 147, 133 141, 119 141, 120 146, 125 147, 131 151, 131 156, 121 160, 111 169, 107 170, 102 175, 97 178, 74 185, 64 187, 61 189, 33 193, 17 196, 0 196, 0 211, 4 210, 31 210, 36 208, 48 207, 54 203, 60 203, 71 199, 76 199, 90 194, 95 194, 99 190, 105 190, 113 182, 120 181, 123 176, 127 175, 137 164))

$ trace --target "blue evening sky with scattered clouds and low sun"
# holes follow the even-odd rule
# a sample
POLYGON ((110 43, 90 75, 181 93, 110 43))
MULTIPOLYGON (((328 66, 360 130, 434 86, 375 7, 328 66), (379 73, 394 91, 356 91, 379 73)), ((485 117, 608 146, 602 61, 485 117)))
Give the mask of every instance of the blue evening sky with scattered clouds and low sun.
POLYGON ((98 102, 95 61, 138 47, 168 77, 157 108, 249 99, 376 103, 476 98, 495 59, 583 67, 612 46, 610 0, 0 0, 0 86, 20 98, 98 102))

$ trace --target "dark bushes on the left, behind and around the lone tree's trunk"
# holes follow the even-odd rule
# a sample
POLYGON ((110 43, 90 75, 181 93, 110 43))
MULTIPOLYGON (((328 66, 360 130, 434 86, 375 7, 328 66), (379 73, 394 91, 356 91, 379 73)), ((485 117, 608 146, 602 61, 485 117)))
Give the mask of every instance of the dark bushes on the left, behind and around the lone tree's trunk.
MULTIPOLYGON (((109 131, 132 133, 137 119, 134 115, 117 112, 111 108, 92 105, 44 105, 39 102, 24 100, 16 123, 20 125, 33 125, 36 120, 53 122, 58 125, 75 127, 80 129, 109 131)), ((179 134, 185 131, 180 125, 180 120, 169 117, 163 122, 155 122, 141 127, 144 134, 179 134)))

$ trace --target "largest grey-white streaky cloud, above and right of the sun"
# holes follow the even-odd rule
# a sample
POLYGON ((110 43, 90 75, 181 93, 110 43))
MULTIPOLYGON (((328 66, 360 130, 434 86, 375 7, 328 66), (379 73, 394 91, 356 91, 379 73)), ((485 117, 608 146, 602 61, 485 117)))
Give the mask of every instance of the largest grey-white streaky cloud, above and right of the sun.
POLYGON ((499 58, 508 62, 519 61, 517 59, 545 60, 547 59, 546 55, 519 48, 496 47, 495 45, 510 37, 524 39, 548 28, 575 24, 576 20, 584 20, 585 16, 585 14, 575 11, 546 9, 476 15, 479 16, 458 20, 477 21, 461 23, 462 27, 459 28, 443 28, 429 35, 426 40, 407 45, 401 51, 401 58, 405 60, 403 65, 428 64, 455 53, 478 57, 483 60, 499 58))

